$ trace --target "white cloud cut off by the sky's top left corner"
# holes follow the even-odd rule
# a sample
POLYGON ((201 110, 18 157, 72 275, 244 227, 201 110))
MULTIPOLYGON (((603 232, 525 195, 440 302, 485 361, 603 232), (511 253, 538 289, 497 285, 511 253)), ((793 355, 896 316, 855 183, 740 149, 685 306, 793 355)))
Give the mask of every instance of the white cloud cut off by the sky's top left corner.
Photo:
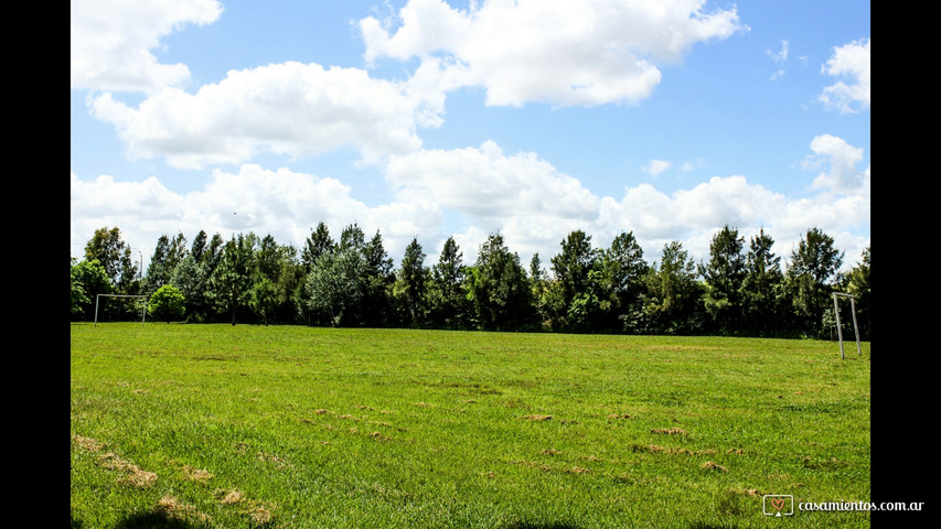
POLYGON ((151 91, 181 86, 184 64, 161 64, 152 50, 185 24, 208 24, 216 0, 72 0, 72 88, 151 91))

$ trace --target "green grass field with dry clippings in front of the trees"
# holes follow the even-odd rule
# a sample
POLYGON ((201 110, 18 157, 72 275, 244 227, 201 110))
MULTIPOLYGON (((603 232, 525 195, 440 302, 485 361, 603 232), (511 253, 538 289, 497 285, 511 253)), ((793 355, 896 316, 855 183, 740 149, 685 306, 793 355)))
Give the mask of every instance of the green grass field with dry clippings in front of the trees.
POLYGON ((72 527, 868 527, 869 344, 72 324, 72 527), (792 495, 787 520, 763 495, 792 495))

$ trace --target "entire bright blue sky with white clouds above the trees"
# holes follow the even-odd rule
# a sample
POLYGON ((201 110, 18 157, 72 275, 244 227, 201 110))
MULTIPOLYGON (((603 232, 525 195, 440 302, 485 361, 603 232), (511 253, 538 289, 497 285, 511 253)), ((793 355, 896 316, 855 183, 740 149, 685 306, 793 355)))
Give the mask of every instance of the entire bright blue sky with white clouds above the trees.
POLYGON ((868 2, 72 1, 71 253, 120 228, 869 245, 868 2))

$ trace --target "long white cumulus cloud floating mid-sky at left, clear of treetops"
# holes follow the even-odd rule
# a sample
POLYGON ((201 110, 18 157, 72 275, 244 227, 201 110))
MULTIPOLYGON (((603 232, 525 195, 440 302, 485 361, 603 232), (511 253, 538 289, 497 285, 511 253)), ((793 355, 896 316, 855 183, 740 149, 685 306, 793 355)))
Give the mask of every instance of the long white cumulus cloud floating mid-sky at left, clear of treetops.
POLYGON ((420 125, 442 101, 408 83, 359 68, 284 63, 228 72, 195 94, 163 88, 133 108, 93 96, 93 115, 117 128, 132 159, 163 156, 179 169, 237 164, 263 152, 288 156, 352 148, 366 160, 421 144, 420 125))

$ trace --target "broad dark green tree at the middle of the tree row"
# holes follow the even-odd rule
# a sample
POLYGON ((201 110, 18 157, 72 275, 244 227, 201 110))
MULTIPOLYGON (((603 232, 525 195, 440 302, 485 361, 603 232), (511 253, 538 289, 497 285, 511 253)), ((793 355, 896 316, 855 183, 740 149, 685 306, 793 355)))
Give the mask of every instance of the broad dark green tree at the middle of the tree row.
POLYGON ((474 266, 468 269, 468 298, 481 327, 514 331, 535 322, 526 271, 499 233, 481 245, 474 266))

